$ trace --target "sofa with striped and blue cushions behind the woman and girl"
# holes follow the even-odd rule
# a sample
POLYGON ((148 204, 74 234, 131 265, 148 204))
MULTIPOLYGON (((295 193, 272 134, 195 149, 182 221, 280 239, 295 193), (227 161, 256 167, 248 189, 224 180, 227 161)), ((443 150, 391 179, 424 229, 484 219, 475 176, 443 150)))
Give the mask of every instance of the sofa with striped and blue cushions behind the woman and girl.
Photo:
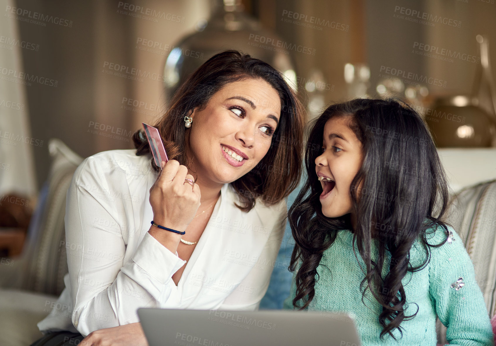
MULTIPOLYGON (((67 272, 67 259, 60 244, 65 239, 65 196, 72 175, 83 158, 70 150, 61 140, 51 139, 48 145, 52 158, 49 177, 43 185, 36 210, 31 219, 22 254, 13 258, 13 266, 0 266, 0 345, 30 345, 42 334, 36 326, 52 309, 64 288, 63 276, 67 272)), ((470 151, 440 150, 443 165, 450 170, 452 196, 448 223, 465 241, 465 246, 475 266, 476 279, 480 285, 490 316, 495 315, 496 299, 496 180, 472 184, 460 189, 464 176, 457 176, 452 169, 456 157, 470 155, 470 151), (449 159, 446 159, 446 155, 449 159)), ((495 156, 496 151, 490 152, 495 156)), ((493 167, 494 170, 494 167, 493 167)), ((463 173, 463 172, 462 172, 463 173)), ((478 178, 496 173, 478 172, 478 178)), ((471 176, 469 178, 472 178, 471 176)), ((288 197, 288 207, 293 203, 303 185, 288 197)), ((63 243, 62 243, 63 244, 63 243)), ((274 266, 267 293, 260 309, 280 309, 289 295, 292 273, 289 266, 294 240, 289 226, 274 266)), ((438 321, 438 340, 444 343, 445 328, 438 321)))

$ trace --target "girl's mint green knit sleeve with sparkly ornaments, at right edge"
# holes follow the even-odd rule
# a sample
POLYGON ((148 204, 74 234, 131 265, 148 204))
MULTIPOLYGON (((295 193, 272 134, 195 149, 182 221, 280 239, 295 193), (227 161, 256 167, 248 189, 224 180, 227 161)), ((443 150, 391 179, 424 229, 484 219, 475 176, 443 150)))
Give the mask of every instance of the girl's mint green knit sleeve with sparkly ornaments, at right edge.
MULTIPOLYGON (((447 328, 450 345, 494 345, 493 331, 484 298, 475 280, 474 266, 456 231, 439 247, 430 247, 430 295, 439 320, 447 328), (458 288, 458 289, 457 289, 458 288)), ((430 244, 444 239, 439 226, 427 234, 430 244)))

